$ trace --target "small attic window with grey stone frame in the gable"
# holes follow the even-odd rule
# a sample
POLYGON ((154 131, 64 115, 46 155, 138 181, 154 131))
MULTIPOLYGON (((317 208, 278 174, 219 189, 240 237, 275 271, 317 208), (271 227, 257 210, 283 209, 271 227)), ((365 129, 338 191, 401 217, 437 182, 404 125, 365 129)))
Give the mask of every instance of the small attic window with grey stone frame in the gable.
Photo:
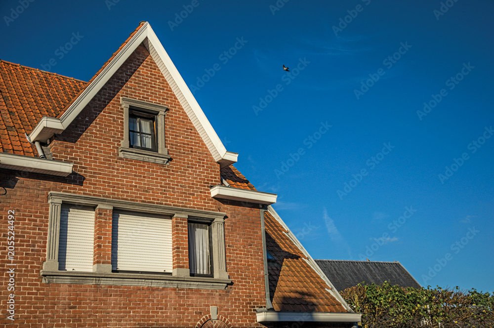
POLYGON ((122 98, 124 140, 119 148, 123 158, 169 164, 165 147, 165 116, 168 108, 142 100, 122 98))

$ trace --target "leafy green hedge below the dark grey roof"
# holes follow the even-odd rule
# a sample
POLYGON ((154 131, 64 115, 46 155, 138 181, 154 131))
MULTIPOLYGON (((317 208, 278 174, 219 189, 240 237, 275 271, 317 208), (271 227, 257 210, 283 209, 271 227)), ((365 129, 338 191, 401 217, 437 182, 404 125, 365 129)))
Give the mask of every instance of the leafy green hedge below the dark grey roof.
POLYGON ((350 287, 341 295, 363 328, 494 328, 494 293, 382 285, 350 287))

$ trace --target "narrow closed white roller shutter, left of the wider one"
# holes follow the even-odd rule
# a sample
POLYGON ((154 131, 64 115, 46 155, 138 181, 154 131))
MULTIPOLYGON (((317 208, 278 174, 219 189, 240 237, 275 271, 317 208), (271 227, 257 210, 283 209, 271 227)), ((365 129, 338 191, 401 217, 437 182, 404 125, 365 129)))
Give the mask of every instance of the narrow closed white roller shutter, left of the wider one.
POLYGON ((58 270, 92 271, 94 209, 63 205, 60 213, 58 270))

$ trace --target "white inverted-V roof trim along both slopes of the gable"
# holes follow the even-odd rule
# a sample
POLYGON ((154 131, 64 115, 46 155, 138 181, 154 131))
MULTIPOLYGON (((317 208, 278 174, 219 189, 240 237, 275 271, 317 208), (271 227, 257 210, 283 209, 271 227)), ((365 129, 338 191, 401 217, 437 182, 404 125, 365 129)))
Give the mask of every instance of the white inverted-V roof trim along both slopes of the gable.
MULTIPOLYGON (((67 128, 120 66, 122 66, 132 52, 134 52, 134 50, 143 42, 165 76, 166 81, 170 84, 170 87, 176 94, 180 104, 187 112, 189 119, 199 131, 214 160, 220 164, 220 167, 236 163, 238 154, 226 150, 211 123, 207 120, 206 115, 199 106, 196 98, 194 98, 189 87, 182 79, 182 76, 178 73, 178 70, 148 22, 137 31, 115 58, 113 58, 103 71, 84 89, 84 91, 82 91, 76 100, 67 108, 60 120, 51 119, 53 120, 53 124, 55 124, 56 120, 58 121, 56 125, 61 125, 63 129, 67 128)), ((58 132, 50 131, 47 129, 47 126, 40 122, 31 132, 29 137, 33 142, 44 142, 51 137, 53 133, 60 133, 63 129, 58 132)))

